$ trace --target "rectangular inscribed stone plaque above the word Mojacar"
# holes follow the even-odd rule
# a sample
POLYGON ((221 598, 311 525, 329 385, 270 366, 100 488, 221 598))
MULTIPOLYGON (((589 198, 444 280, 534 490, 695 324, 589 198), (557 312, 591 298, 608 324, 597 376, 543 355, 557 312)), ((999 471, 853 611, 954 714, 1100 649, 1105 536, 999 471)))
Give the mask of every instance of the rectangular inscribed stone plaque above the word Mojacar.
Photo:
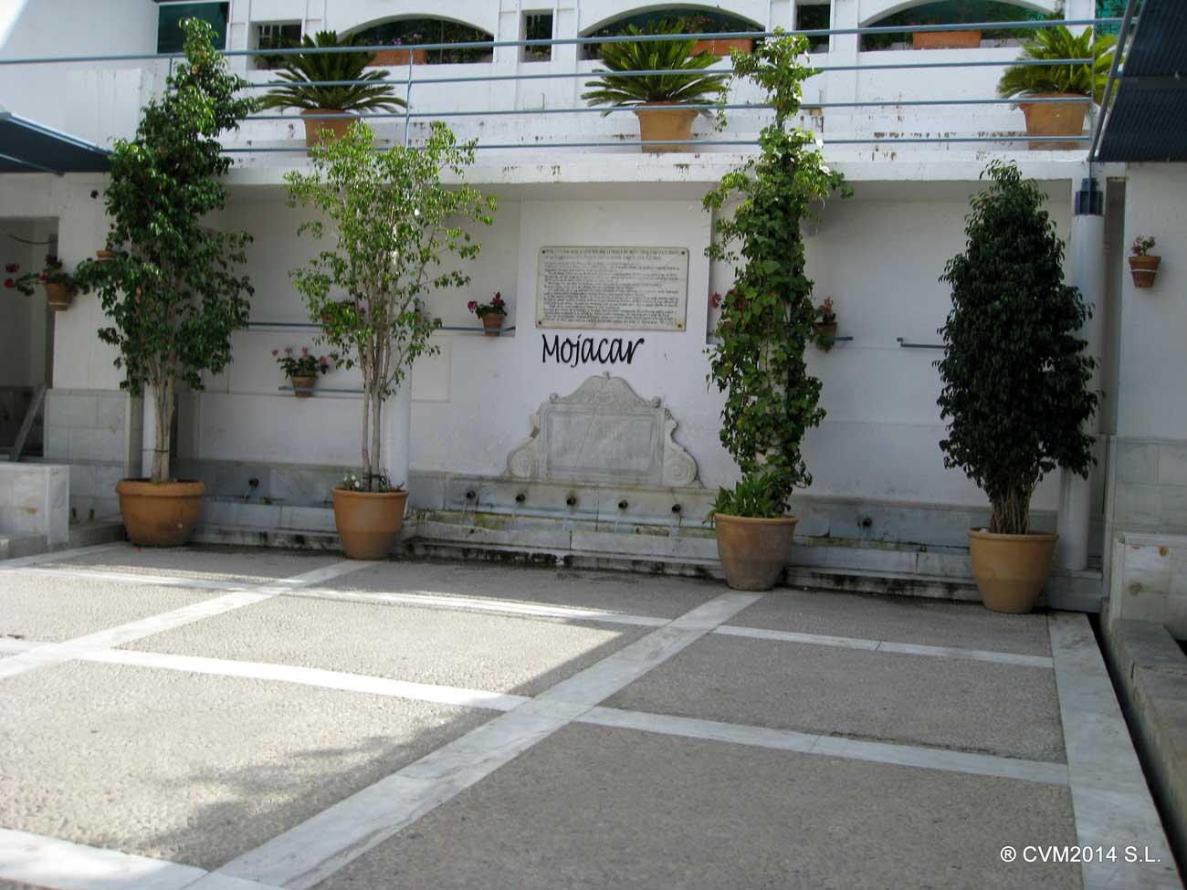
POLYGON ((538 328, 683 331, 687 298, 687 248, 540 248, 538 328))

